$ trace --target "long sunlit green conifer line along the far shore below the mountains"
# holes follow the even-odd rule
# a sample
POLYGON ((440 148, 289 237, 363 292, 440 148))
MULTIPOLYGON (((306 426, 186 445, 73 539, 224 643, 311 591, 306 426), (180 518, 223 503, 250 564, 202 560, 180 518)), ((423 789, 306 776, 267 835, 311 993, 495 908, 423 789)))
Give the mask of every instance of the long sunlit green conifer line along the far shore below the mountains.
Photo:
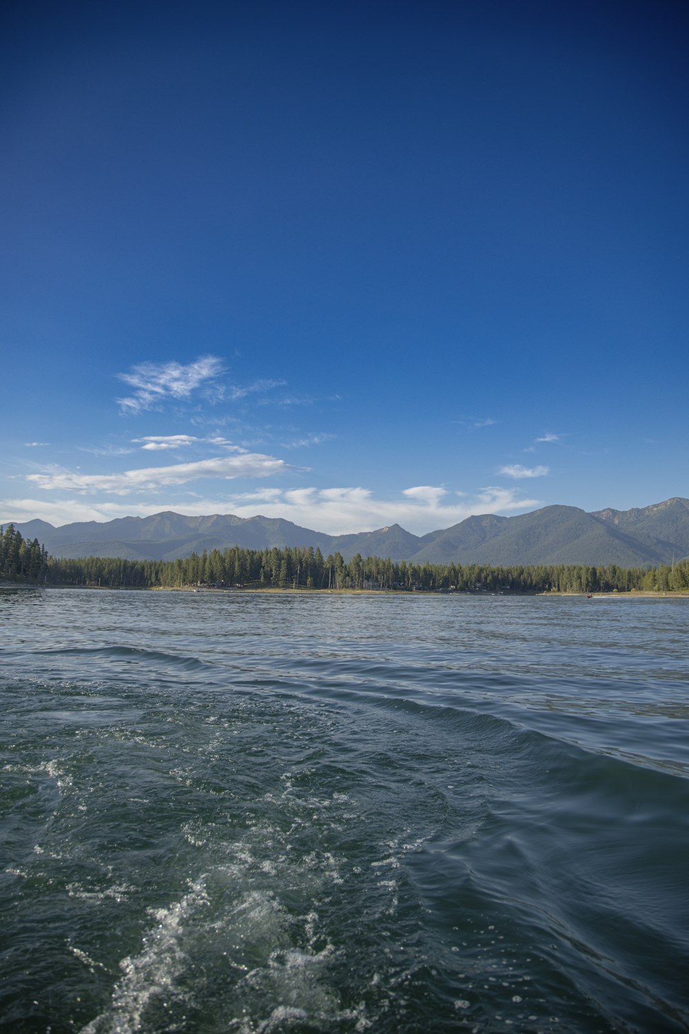
MULTIPOLYGON (((18 533, 14 533, 15 535, 18 533)), ((33 546, 33 544, 32 544, 33 546)), ((615 564, 511 565, 411 564, 361 554, 345 560, 313 547, 213 549, 176 560, 50 557, 48 583, 104 587, 401 589, 460 592, 610 592, 689 590, 689 559, 656 568, 615 564)))

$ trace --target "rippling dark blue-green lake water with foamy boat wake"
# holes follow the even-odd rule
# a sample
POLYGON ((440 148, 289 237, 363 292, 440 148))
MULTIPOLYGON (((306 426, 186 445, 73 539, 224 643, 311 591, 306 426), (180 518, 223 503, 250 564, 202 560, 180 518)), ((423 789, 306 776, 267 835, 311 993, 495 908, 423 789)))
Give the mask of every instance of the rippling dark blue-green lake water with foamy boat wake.
POLYGON ((0 1025, 686 1031, 688 630, 0 590, 0 1025))

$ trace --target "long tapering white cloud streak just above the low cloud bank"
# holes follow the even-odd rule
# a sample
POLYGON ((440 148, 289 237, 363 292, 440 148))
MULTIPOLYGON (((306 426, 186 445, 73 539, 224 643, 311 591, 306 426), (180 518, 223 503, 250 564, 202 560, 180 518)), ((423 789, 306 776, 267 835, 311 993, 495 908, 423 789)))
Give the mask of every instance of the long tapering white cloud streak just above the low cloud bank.
POLYGON ((192 463, 169 466, 149 466, 121 474, 80 474, 62 467, 49 467, 40 474, 29 474, 27 480, 50 491, 108 492, 126 495, 129 492, 156 490, 167 485, 185 485, 203 478, 269 478, 295 469, 284 460, 260 453, 215 456, 192 463))

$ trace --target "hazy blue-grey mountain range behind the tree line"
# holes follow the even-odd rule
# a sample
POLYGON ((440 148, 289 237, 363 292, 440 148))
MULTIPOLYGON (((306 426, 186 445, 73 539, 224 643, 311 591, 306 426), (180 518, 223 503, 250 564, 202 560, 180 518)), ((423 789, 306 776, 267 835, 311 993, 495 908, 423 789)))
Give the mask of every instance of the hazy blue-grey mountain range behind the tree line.
MULTIPOLYGON (((8 523, 7 521, 4 522, 8 523)), ((325 535, 277 517, 213 514, 185 517, 171 511, 152 517, 120 517, 54 527, 42 520, 15 524, 54 556, 121 556, 176 559, 203 549, 319 547, 345 559, 389 556, 432 564, 617 564, 645 567, 689 555, 689 499, 671 498, 633 510, 586 513, 576 507, 544 507, 518 517, 483 514, 425 536, 399 524, 357 535, 325 535)))

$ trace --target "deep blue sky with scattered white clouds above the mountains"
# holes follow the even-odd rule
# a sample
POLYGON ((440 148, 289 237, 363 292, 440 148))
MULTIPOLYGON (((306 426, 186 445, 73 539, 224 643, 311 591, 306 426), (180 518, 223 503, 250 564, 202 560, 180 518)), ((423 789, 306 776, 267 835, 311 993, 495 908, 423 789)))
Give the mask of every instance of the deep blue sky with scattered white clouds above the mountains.
POLYGON ((0 518, 689 495, 680 2, 12 2, 0 518))

